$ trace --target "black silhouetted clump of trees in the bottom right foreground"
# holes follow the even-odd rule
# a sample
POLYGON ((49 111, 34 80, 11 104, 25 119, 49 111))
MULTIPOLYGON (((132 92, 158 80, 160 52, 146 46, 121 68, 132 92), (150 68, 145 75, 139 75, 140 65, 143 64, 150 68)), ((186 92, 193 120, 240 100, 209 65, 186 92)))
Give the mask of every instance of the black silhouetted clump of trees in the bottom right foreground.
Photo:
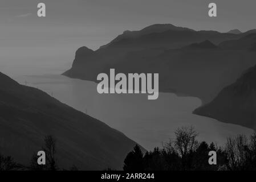
POLYGON ((198 142, 193 127, 181 127, 175 137, 145 154, 136 145, 124 159, 124 171, 251 171, 256 170, 256 133, 229 137, 224 146, 198 142), (210 165, 209 151, 217 164, 210 165))

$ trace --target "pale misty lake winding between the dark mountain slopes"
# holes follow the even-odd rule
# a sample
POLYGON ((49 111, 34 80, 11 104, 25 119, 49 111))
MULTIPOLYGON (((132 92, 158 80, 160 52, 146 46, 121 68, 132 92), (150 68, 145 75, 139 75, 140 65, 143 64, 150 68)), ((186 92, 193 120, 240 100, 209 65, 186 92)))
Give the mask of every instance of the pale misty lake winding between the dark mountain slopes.
POLYGON ((198 139, 220 145, 225 143, 227 137, 253 132, 246 127, 192 114, 201 105, 201 100, 195 97, 159 93, 157 100, 148 100, 147 94, 99 94, 95 82, 60 75, 14 78, 105 122, 147 150, 161 147, 162 142, 172 139, 174 130, 181 126, 194 126, 200 134, 198 139))

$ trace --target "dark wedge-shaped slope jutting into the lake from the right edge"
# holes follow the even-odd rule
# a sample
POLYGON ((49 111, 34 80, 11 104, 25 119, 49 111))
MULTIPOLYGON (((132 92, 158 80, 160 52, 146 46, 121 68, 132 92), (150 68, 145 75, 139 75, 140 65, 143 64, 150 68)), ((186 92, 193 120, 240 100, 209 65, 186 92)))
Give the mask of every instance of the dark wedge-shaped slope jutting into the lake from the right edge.
POLYGON ((234 123, 256 130, 256 66, 248 69, 237 81, 226 86, 209 104, 194 114, 234 123))

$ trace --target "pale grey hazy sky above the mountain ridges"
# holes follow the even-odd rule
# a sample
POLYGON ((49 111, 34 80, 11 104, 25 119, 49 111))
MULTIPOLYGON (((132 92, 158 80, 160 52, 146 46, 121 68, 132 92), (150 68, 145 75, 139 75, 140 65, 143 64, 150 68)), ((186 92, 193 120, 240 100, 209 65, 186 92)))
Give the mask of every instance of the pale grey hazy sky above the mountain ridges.
POLYGON ((95 50, 125 30, 155 23, 247 31, 256 28, 255 7, 255 0, 1 0, 0 71, 21 69, 30 59, 45 67, 58 59, 69 67, 79 47, 95 50), (46 4, 45 18, 37 16, 39 2, 46 4), (217 4, 216 18, 208 16, 210 2, 217 4))

